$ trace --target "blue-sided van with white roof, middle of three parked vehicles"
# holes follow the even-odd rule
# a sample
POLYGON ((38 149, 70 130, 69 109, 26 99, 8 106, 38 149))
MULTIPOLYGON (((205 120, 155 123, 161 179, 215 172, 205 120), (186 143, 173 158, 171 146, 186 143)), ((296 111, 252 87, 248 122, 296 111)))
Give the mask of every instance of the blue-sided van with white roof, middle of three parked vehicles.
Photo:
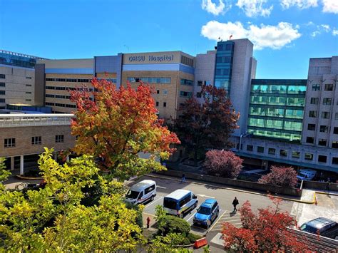
POLYGON ((198 199, 190 190, 175 190, 163 199, 163 207, 169 215, 180 218, 198 206, 198 199))

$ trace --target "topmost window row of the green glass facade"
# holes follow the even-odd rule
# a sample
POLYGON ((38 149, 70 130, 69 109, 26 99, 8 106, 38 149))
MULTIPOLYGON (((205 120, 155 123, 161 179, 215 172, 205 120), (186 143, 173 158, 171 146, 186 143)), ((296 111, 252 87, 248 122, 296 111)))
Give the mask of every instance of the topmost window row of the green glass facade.
POLYGON ((288 94, 305 94, 306 86, 286 86, 286 85, 252 85, 252 93, 288 93, 288 94))

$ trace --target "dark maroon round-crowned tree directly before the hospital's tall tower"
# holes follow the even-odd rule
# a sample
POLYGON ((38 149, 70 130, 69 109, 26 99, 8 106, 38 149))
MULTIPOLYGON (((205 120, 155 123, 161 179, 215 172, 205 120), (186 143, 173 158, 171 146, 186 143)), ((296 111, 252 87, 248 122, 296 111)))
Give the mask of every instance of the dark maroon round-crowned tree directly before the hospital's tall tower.
POLYGON ((185 100, 174 120, 173 129, 186 148, 193 150, 195 165, 198 151, 230 146, 230 134, 237 128, 235 113, 224 89, 203 86, 203 103, 193 97, 185 100))

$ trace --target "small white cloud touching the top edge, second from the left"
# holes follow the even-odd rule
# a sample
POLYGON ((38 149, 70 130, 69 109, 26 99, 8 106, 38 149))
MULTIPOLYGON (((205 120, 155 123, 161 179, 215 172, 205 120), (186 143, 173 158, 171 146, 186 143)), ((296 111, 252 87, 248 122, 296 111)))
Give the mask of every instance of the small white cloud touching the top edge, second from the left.
POLYGON ((252 16, 270 16, 273 5, 270 7, 263 7, 267 0, 238 0, 237 6, 245 11, 245 15, 252 16))

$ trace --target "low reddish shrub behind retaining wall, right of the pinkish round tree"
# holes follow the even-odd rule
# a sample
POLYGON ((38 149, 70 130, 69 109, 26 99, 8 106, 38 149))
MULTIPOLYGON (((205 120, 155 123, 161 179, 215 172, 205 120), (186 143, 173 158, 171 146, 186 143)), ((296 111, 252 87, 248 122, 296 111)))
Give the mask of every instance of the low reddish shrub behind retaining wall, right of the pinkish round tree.
POLYGON ((258 182, 267 185, 295 187, 297 185, 297 172, 293 167, 271 166, 271 172, 263 175, 258 182))

